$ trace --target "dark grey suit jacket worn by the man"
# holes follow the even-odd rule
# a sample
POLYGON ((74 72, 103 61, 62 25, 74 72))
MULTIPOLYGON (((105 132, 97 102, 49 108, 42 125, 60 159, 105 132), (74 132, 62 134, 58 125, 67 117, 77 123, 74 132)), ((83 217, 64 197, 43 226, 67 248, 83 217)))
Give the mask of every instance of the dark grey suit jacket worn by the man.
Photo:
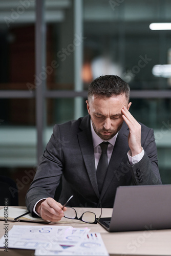
POLYGON ((153 130, 141 125, 143 158, 132 166, 128 163, 129 128, 123 122, 99 195, 90 116, 56 124, 26 196, 28 209, 32 211, 39 199, 54 197, 61 175, 59 202, 64 204, 74 195, 69 202, 73 207, 99 207, 99 201, 102 207, 113 207, 116 188, 120 185, 161 184, 153 130))

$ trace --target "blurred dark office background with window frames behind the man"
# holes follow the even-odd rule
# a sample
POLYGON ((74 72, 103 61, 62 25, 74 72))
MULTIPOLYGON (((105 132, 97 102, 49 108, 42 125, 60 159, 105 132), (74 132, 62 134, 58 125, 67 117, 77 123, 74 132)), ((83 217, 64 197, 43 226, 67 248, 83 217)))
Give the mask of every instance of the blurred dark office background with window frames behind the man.
POLYGON ((19 205, 53 125, 87 115, 88 84, 104 74, 130 84, 130 111, 154 129, 171 182, 171 31, 149 28, 170 11, 170 0, 0 1, 0 175, 19 205))

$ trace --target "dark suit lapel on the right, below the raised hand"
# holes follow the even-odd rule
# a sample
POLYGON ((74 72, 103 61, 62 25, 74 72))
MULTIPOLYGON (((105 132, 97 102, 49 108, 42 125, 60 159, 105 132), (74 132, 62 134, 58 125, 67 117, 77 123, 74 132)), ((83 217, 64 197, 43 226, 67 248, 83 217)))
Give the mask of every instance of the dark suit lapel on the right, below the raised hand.
POLYGON ((129 146, 127 142, 127 137, 129 135, 129 129, 125 122, 123 122, 123 125, 121 127, 121 130, 118 133, 115 146, 112 152, 111 160, 108 166, 108 170, 105 176, 103 188, 100 195, 100 200, 104 196, 105 191, 108 189, 111 181, 115 177, 116 170, 118 169, 119 165, 121 164, 121 161, 123 159, 123 156, 129 151, 129 146))

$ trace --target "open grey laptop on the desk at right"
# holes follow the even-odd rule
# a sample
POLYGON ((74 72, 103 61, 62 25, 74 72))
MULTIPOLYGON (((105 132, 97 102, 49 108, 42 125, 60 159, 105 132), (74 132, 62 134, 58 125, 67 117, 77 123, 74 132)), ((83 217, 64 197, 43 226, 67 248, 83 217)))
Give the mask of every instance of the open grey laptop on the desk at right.
POLYGON ((109 232, 171 228, 171 185, 119 186, 112 217, 99 223, 109 232))

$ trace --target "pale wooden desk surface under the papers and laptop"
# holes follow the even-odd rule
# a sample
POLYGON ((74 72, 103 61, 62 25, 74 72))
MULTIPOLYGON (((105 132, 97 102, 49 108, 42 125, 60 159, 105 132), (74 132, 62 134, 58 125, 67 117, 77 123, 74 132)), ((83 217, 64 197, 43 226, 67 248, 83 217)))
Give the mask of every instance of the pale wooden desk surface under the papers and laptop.
MULTIPOLYGON (((3 206, 0 206, 2 209, 3 206)), ((20 207, 25 208, 25 207, 20 207)), ((98 217, 100 209, 98 208, 75 208, 78 216, 84 211, 90 210, 95 212, 98 217)), ((103 208, 102 217, 111 217, 112 209, 103 208)), ((4 236, 4 221, 0 221, 0 237, 4 236)), ((108 232, 100 224, 87 224, 77 220, 69 220, 62 218, 58 223, 42 224, 33 222, 8 222, 8 230, 13 225, 65 225, 73 226, 77 228, 88 227, 91 228, 91 232, 100 232, 106 249, 110 255, 171 255, 171 230, 145 230, 145 231, 132 231, 132 232, 108 232)), ((34 250, 23 249, 8 249, 5 252, 3 248, 0 248, 1 256, 34 256, 34 250)))

